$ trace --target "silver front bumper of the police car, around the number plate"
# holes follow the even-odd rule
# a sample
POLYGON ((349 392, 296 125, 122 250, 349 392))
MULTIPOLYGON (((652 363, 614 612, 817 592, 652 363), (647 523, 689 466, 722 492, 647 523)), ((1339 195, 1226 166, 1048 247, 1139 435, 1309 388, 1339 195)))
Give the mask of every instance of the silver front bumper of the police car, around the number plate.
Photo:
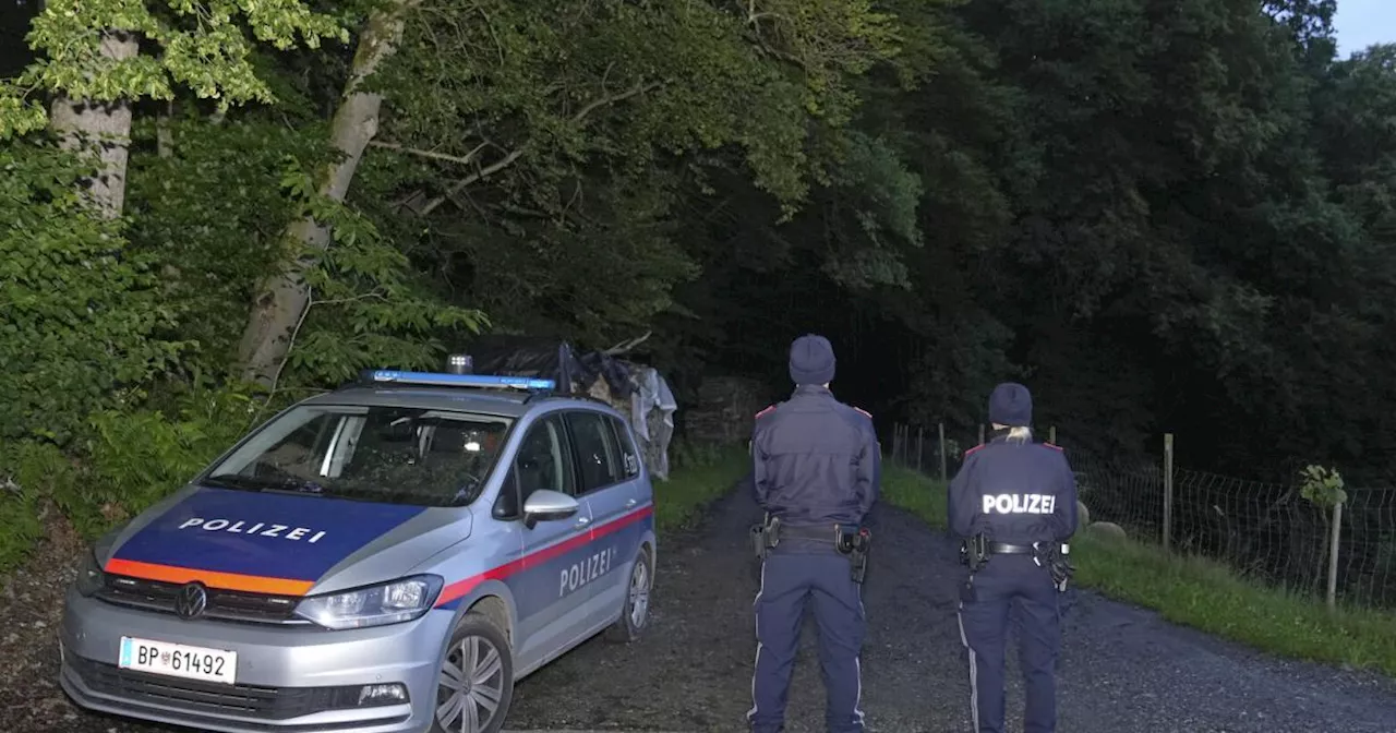
POLYGON ((419 733, 454 614, 378 628, 186 621, 71 588, 60 635, 63 690, 82 708, 226 733, 419 733), (121 637, 237 652, 236 684, 119 670, 121 637), (406 704, 357 706, 357 688, 399 683, 406 704))

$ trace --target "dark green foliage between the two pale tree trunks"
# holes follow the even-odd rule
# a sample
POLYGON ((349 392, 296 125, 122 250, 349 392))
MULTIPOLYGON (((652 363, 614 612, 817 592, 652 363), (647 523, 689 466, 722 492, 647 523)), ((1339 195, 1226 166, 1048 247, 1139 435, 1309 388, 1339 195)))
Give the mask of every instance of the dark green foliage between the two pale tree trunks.
MULTIPOLYGON (((228 373, 262 274, 276 264, 286 222, 300 212, 281 188, 288 156, 324 159, 315 130, 258 119, 211 126, 180 114, 165 126, 166 155, 130 166, 127 237, 159 275, 159 299, 191 342, 183 367, 228 373)), ((155 144, 140 124, 138 145, 155 144)))

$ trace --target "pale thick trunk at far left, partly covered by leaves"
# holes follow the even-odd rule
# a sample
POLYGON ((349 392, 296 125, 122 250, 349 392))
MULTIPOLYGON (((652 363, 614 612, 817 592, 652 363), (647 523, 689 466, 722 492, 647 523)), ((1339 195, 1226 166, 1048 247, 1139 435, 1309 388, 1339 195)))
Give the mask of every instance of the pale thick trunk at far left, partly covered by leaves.
MULTIPOLYGON (((102 56, 113 61, 134 59, 140 52, 135 36, 109 32, 102 36, 102 56)), ((88 179, 87 201, 106 219, 116 219, 126 205, 126 162, 131 145, 131 105, 127 101, 88 102, 59 95, 49 124, 63 138, 63 147, 92 155, 98 175, 88 179)))

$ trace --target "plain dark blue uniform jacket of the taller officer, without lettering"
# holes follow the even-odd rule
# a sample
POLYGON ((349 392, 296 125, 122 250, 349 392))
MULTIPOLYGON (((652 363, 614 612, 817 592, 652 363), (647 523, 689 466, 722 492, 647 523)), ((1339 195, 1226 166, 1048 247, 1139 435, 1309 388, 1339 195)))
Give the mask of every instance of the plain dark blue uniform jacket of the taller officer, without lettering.
POLYGON ((872 417, 819 385, 757 413, 751 458, 757 503, 790 526, 861 525, 878 497, 872 417))

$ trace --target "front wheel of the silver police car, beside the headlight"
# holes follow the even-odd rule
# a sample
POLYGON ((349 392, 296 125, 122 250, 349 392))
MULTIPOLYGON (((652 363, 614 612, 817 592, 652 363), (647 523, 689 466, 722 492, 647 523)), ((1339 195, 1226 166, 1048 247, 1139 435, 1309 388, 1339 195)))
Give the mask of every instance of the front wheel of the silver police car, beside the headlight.
POLYGON ((437 672, 433 733, 498 733, 514 698, 514 655, 493 621, 468 613, 437 672))

